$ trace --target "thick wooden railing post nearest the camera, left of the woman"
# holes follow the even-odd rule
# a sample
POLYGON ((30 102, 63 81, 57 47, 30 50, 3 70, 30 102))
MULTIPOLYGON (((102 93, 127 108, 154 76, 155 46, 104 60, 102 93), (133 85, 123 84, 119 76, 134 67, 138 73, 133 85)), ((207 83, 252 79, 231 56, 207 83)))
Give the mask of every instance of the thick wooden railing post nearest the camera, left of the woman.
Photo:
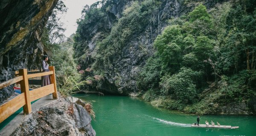
POLYGON ((23 76, 23 80, 20 81, 20 91, 25 94, 26 104, 23 106, 23 113, 29 114, 31 113, 31 103, 30 103, 30 95, 29 95, 29 81, 27 78, 27 69, 20 69, 19 75, 23 76))

